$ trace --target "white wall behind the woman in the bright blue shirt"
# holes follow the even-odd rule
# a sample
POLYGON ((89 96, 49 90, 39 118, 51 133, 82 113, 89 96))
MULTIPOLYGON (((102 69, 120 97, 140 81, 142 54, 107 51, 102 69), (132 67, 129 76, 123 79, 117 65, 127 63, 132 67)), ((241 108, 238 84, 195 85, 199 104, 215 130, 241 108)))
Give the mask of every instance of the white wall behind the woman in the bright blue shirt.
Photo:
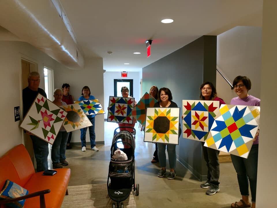
MULTIPOLYGON (((100 103, 104 103, 103 89, 103 59, 102 58, 85 58, 85 68, 82 70, 71 70, 60 65, 54 70, 54 86, 61 88, 63 83, 69 83, 70 94, 75 100, 81 96, 84 86, 88 86, 91 95, 95 96, 100 103)), ((104 144, 104 115, 100 114, 95 117, 96 143, 104 144)), ((81 142, 81 131, 72 132, 71 142, 81 142)), ((87 130, 86 141, 89 142, 89 131, 87 130)), ((89 147, 87 145, 87 147, 89 147)))

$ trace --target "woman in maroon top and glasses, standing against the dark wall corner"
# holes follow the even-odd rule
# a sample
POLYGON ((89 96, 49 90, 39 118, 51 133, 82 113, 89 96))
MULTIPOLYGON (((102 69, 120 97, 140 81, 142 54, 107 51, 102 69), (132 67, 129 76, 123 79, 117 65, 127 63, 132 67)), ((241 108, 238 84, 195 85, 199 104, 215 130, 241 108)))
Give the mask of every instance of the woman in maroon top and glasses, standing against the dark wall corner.
MULTIPOLYGON (((219 101, 219 105, 226 104, 221 98, 216 95, 216 88, 211 82, 204 82, 200 86, 200 100, 206 101, 219 101)), ((204 159, 207 164, 208 173, 207 181, 200 185, 201 188, 208 188, 207 195, 214 195, 219 192, 219 151, 204 146, 204 142, 201 142, 204 159)))

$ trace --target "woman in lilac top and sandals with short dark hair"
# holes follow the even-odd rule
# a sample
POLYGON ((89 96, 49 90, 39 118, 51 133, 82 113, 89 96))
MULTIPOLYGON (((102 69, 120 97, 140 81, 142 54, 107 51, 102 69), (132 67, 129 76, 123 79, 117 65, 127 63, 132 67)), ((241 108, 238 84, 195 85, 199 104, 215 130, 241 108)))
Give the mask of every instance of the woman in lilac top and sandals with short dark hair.
MULTIPOLYGON (((248 94, 251 81, 248 77, 237 76, 233 81, 233 89, 237 97, 231 100, 231 105, 260 106, 260 99, 248 94)), ((242 199, 231 204, 232 208, 256 207, 256 187, 258 169, 259 130, 257 131, 248 158, 231 155, 233 166, 237 172, 237 181, 242 199), (249 202, 248 180, 252 196, 252 206, 249 202)))

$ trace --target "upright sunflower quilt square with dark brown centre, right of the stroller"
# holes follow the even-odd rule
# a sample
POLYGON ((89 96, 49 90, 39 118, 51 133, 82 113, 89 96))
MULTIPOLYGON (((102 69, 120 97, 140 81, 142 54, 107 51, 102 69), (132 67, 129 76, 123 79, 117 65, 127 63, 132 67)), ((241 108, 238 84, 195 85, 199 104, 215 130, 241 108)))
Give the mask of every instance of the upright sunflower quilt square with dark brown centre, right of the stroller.
POLYGON ((147 108, 145 142, 179 144, 180 108, 147 108))

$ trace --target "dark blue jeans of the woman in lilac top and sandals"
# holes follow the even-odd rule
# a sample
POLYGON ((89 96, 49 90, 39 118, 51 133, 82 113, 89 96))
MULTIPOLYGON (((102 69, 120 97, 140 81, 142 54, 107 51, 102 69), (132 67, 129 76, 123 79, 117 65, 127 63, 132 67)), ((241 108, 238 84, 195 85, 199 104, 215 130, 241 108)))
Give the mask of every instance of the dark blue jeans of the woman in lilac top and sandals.
POLYGON ((240 193, 242 196, 249 196, 249 180, 252 202, 256 201, 258 152, 259 144, 253 144, 247 159, 231 155, 234 168, 237 172, 240 193))

